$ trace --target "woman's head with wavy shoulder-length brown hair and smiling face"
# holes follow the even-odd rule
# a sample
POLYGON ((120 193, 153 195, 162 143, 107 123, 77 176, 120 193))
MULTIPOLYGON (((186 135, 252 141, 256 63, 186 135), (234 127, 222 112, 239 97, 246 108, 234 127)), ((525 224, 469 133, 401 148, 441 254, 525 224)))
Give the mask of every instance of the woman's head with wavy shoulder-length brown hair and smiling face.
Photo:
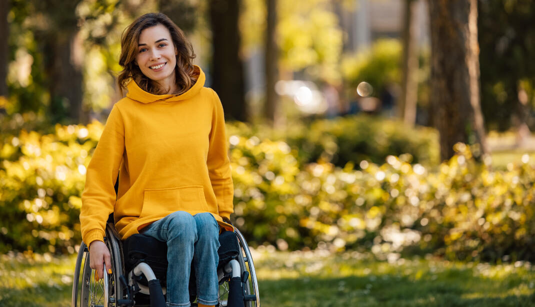
POLYGON ((192 45, 167 16, 141 16, 121 37, 119 64, 124 69, 117 78, 121 95, 131 79, 155 95, 184 93, 198 78, 194 58, 192 45))

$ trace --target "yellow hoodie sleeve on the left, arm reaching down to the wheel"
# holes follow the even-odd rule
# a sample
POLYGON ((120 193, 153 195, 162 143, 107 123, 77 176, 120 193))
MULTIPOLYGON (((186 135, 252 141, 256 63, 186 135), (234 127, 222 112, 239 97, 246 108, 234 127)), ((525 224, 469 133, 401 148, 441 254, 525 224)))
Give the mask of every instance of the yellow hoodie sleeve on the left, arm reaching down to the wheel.
POLYGON ((114 105, 87 167, 86 185, 82 192, 80 226, 87 246, 95 240, 104 241, 106 221, 117 199, 114 185, 124 150, 123 117, 114 105))

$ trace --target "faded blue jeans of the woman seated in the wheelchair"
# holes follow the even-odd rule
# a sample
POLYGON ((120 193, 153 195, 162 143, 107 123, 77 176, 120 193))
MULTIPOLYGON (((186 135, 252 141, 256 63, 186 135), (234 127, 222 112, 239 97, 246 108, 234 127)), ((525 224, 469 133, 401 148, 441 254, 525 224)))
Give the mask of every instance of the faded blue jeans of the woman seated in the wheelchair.
POLYGON ((167 242, 167 306, 188 307, 189 273, 194 261, 197 302, 216 305, 219 283, 219 225, 208 212, 176 211, 145 227, 141 233, 167 242))

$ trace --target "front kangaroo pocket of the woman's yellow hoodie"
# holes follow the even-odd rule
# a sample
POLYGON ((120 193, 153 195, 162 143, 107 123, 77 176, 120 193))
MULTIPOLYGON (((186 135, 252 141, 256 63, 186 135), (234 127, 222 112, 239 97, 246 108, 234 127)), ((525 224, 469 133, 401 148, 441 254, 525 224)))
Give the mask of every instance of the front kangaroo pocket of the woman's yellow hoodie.
POLYGON ((208 211, 202 185, 144 190, 143 208, 139 217, 166 216, 174 211, 208 211))

